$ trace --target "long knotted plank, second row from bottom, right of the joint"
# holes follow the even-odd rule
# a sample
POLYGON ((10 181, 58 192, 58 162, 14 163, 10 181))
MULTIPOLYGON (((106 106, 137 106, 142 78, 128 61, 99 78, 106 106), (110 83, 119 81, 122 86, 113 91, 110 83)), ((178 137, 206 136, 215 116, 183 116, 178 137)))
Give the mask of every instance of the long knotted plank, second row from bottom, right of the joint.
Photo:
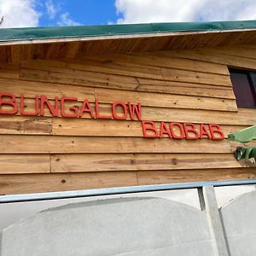
POLYGON ((233 154, 54 154, 51 172, 241 168, 233 154))

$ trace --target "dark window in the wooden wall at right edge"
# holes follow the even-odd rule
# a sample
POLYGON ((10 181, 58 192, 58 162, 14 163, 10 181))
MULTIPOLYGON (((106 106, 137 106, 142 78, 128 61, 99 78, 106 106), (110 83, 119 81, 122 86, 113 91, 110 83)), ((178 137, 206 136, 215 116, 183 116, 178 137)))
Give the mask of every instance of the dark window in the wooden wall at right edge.
POLYGON ((238 108, 256 108, 256 73, 230 69, 238 108))

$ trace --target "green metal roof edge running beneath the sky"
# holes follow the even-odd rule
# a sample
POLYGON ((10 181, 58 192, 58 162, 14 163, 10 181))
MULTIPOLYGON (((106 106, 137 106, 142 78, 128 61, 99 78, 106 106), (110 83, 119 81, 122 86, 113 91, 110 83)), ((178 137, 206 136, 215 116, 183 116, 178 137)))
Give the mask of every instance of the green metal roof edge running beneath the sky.
POLYGON ((160 32, 221 31, 253 28, 256 28, 256 20, 1 28, 0 41, 135 35, 160 32))

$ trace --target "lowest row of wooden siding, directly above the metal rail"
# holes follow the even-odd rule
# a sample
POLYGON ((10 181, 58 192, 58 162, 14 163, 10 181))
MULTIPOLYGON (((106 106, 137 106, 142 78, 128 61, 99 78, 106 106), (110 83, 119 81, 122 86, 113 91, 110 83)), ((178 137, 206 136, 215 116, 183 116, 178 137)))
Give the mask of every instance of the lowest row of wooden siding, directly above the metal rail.
POLYGON ((255 178, 255 168, 0 175, 0 195, 255 178))

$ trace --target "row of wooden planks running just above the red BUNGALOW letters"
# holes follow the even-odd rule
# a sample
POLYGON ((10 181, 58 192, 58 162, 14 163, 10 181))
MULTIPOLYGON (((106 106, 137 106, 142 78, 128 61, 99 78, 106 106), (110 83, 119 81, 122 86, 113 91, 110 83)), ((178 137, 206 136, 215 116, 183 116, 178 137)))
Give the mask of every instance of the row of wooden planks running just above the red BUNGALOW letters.
MULTIPOLYGON (((24 95, 26 98, 35 98, 35 96, 45 95, 49 99, 54 99, 58 96, 73 96, 78 99, 78 104, 81 106, 84 99, 90 102, 112 103, 112 102, 131 102, 137 104, 141 102, 142 106, 159 107, 159 108, 190 108, 190 109, 209 109, 218 111, 237 111, 236 101, 234 99, 209 97, 209 96, 183 96, 173 94, 160 94, 153 92, 142 91, 127 91, 127 90, 109 90, 109 89, 93 89, 83 86, 63 86, 52 84, 43 84, 24 81, 7 81, 0 79, 0 91, 5 93, 13 93, 15 96, 24 95), (16 89, 17 88, 17 89, 16 89), (30 89, 32 88, 32 90, 30 89)), ((223 92, 224 94, 224 92, 223 92)), ((17 101, 19 103, 19 101, 17 101)), ((32 100, 28 100, 33 102, 32 100)), ((71 105, 72 102, 69 102, 71 105)), ((73 104, 77 104, 74 102, 73 104)), ((32 108, 32 107, 31 107, 32 108)), ((34 108, 34 106, 33 106, 34 108)))

